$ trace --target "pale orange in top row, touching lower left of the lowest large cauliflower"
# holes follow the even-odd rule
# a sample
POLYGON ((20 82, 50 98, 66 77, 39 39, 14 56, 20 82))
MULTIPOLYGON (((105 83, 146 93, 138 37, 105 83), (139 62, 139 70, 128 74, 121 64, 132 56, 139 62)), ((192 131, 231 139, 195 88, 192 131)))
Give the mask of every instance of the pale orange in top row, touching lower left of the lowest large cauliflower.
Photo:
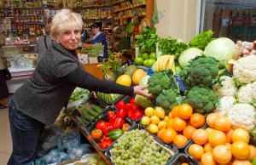
POLYGON ((232 123, 230 122, 230 119, 228 117, 216 117, 214 122, 214 128, 218 129, 220 131, 229 131, 232 123))

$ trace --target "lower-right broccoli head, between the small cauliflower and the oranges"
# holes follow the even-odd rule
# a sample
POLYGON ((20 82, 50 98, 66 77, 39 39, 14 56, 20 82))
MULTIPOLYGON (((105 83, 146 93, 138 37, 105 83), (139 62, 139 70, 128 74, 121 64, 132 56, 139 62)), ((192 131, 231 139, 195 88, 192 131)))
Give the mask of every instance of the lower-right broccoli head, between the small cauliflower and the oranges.
POLYGON ((203 114, 213 111, 217 100, 217 96, 211 89, 195 86, 189 91, 183 103, 191 105, 194 112, 203 114))

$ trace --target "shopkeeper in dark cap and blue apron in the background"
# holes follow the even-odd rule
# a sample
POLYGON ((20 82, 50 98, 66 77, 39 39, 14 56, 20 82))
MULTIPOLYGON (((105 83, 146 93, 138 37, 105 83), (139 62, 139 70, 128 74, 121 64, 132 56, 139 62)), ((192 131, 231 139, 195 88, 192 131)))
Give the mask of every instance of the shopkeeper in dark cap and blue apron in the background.
POLYGON ((104 58, 108 58, 108 43, 105 35, 102 33, 102 22, 95 22, 90 26, 95 36, 90 40, 90 44, 102 43, 104 45, 104 58))

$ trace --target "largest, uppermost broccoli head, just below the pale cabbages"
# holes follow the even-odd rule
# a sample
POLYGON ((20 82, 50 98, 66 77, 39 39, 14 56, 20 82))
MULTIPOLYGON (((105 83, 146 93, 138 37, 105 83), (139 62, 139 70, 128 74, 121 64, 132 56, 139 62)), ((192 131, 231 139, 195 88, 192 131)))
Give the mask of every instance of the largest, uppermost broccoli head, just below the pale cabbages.
POLYGON ((212 81, 218 77, 217 61, 211 57, 198 57, 181 73, 183 83, 188 87, 201 85, 209 87, 212 81))

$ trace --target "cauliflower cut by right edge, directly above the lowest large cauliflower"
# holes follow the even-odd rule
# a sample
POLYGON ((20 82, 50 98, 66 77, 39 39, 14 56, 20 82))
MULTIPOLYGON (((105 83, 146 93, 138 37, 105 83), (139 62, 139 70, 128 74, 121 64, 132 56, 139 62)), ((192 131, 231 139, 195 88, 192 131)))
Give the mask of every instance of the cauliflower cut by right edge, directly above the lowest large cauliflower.
POLYGON ((253 99, 253 97, 255 96, 255 93, 253 93, 255 86, 255 83, 248 83, 246 86, 239 88, 236 94, 237 100, 241 103, 252 103, 256 101, 255 99, 253 99))

